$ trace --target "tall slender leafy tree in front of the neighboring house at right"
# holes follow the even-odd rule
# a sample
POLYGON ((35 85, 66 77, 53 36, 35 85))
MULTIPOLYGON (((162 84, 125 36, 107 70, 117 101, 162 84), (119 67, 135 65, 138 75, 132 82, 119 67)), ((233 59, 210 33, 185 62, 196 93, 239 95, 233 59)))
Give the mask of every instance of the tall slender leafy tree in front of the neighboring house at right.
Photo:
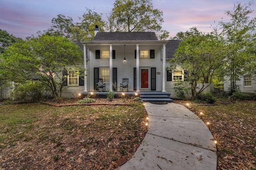
MULTIPOLYGON (((220 21, 221 36, 226 40, 226 77, 230 80, 231 92, 238 88, 236 80, 239 80, 241 75, 252 72, 252 63, 255 63, 255 53, 251 47, 255 47, 255 23, 256 18, 250 19, 252 13, 250 6, 241 3, 234 4, 232 11, 225 12, 231 18, 230 22, 220 21)), ((255 66, 255 64, 254 64, 255 66)))

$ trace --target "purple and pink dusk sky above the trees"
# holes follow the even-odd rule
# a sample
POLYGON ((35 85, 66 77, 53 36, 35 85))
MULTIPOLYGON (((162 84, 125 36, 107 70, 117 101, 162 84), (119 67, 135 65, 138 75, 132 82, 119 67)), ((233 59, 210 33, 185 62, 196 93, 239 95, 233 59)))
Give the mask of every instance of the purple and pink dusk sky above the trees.
MULTIPOLYGON (((0 29, 6 30, 15 37, 37 35, 52 25, 52 18, 58 14, 78 17, 86 11, 85 8, 94 10, 98 14, 105 14, 113 6, 115 0, 0 0, 0 29), (95 8, 95 9, 94 9, 95 8)), ((163 12, 163 29, 174 37, 176 33, 185 32, 191 27, 199 31, 210 32, 211 24, 216 25, 222 18, 230 21, 224 12, 232 10, 235 2, 248 4, 249 0, 152 0, 154 8, 163 12)), ((256 5, 251 6, 256 10, 256 5)), ((256 16, 254 11, 251 17, 256 16)))

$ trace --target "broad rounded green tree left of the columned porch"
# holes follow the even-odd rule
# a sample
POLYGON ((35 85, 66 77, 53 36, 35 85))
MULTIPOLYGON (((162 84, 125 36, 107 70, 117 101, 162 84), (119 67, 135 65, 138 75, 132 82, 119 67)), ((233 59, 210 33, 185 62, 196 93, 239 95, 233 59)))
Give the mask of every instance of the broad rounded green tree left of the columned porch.
MULTIPOLYGON (((60 36, 42 35, 14 43, 1 55, 4 72, 16 82, 38 80, 46 84, 54 97, 61 96, 67 66, 79 65, 81 49, 60 36)), ((80 70, 82 68, 74 68, 80 70)))

